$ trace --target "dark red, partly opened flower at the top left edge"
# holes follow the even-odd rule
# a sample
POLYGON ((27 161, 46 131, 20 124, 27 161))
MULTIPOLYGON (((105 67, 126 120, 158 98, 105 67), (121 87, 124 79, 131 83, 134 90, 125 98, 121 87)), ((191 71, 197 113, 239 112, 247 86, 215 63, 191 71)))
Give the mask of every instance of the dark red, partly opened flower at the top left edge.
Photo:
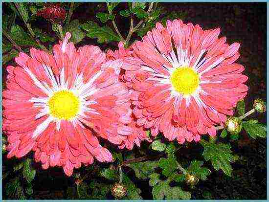
POLYGON ((60 23, 66 19, 66 10, 61 7, 60 3, 46 3, 45 7, 37 12, 37 16, 41 16, 52 23, 60 23))

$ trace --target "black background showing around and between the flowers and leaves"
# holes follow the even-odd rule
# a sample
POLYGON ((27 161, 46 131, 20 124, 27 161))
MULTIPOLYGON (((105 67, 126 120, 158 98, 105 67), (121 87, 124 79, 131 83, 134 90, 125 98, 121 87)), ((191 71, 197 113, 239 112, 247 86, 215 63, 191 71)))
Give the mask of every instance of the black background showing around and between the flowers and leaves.
MULTIPOLYGON (((266 3, 160 3, 166 12, 186 13, 183 22, 198 23, 203 29, 215 27, 221 28, 220 36, 227 37, 227 43, 240 43, 241 57, 238 63, 246 67, 245 74, 249 77, 247 86, 249 91, 246 97, 246 108, 251 109, 254 99, 266 100, 267 93, 267 4, 266 3)), ((100 3, 83 3, 77 7, 71 20, 94 20, 96 12, 105 12, 106 8, 100 3), (94 9, 93 9, 94 8, 94 9), (97 10, 96 10, 97 9, 97 10)), ((127 8, 127 4, 120 4, 116 11, 127 8)), ((3 6, 3 11, 5 6, 3 6)), ((129 19, 117 15, 115 21, 119 30, 126 36, 129 31, 129 19)), ((134 22, 137 23, 137 22, 134 22)), ((41 21, 40 26, 48 26, 41 21)), ((135 34, 133 39, 139 39, 135 34)), ((96 40, 85 38, 76 46, 85 44, 99 45, 103 50, 115 49, 117 43, 100 45, 96 40)), ((5 77, 5 75, 3 75, 5 77)), ((258 117, 260 122, 266 123, 266 113, 251 115, 258 117)), ((267 143, 266 139, 249 139, 242 132, 239 141, 231 143, 232 150, 239 156, 239 160, 232 164, 234 168, 232 177, 227 177, 220 172, 212 172, 206 181, 200 181, 195 189, 190 190, 192 199, 266 199, 267 196, 267 143)), ((136 148, 137 149, 137 148, 136 148)), ((193 157, 200 156, 202 147, 199 144, 189 145, 188 149, 180 150, 180 161, 188 161, 193 157)), ((5 159, 5 158, 3 158, 5 159)), ((209 162, 205 164, 212 171, 209 162)), ((8 163, 7 165, 8 166, 8 163)), ((40 165, 36 165, 37 168, 40 165)), ((32 199, 67 199, 66 189, 71 183, 71 178, 64 178, 62 169, 50 168, 47 171, 37 170, 34 181, 34 193, 32 199)), ((123 169, 123 171, 128 171, 123 169)), ((151 187, 148 181, 140 181, 134 177, 133 171, 128 175, 142 190, 144 200, 152 199, 151 187)), ((3 185, 4 190, 4 185, 3 185)), ((3 191, 4 192, 4 191, 3 191)))

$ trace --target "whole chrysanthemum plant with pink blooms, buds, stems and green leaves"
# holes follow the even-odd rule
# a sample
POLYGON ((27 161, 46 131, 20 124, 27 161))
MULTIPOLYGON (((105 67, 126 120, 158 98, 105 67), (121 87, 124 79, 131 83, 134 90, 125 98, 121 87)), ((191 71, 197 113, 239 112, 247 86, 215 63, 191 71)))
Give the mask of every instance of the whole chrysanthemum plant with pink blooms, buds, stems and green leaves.
POLYGON ((5 196, 30 199, 54 167, 73 179, 67 199, 142 199, 135 179, 153 199, 191 199, 212 172, 231 176, 229 142, 267 135, 248 118, 264 101, 245 109, 239 43, 156 2, 93 5, 96 22, 74 20, 80 3, 4 4, 5 196), (125 34, 116 18, 130 19, 125 34))

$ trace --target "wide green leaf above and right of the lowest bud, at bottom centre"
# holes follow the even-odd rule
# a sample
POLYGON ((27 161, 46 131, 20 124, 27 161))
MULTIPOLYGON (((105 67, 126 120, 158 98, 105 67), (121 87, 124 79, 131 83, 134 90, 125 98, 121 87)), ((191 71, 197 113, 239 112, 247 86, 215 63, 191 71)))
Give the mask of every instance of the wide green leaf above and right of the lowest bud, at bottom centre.
POLYGON ((158 161, 135 162, 128 166, 134 170, 137 178, 145 180, 158 167, 158 161))

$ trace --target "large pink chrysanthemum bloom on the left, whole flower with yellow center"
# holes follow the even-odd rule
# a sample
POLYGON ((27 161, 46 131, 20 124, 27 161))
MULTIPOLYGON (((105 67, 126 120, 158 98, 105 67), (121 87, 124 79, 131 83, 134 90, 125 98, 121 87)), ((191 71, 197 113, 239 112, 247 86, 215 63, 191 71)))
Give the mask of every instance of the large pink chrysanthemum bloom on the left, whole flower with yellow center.
POLYGON ((35 48, 31 57, 20 53, 19 66, 7 67, 3 91, 3 130, 8 135, 7 157, 35 151, 35 160, 73 168, 98 161, 112 161, 99 144, 101 136, 120 145, 133 129, 130 93, 118 82, 120 60, 107 60, 99 47, 76 48, 68 43, 53 47, 53 55, 35 48), (93 129, 93 131, 92 131, 93 129), (118 139, 122 141, 118 141, 118 139))

